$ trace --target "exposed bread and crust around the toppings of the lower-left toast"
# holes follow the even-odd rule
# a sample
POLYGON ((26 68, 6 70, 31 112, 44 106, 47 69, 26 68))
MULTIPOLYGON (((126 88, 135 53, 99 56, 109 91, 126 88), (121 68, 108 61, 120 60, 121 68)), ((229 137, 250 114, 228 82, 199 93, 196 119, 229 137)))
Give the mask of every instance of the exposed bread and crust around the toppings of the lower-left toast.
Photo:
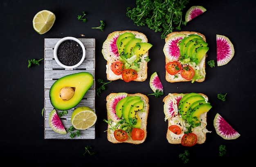
MULTIPOLYGON (((109 102, 110 98, 116 93, 110 93, 107 97, 106 97, 106 101, 107 103, 109 102)), ((107 134, 107 138, 108 141, 112 142, 112 143, 132 143, 132 144, 140 144, 143 143, 146 139, 147 136, 147 119, 148 119, 148 110, 149 110, 149 104, 148 104, 148 97, 144 94, 141 93, 135 93, 135 94, 127 94, 127 96, 139 96, 141 98, 141 100, 144 101, 144 112, 137 112, 137 114, 139 115, 139 118, 141 119, 141 129, 144 130, 144 139, 141 141, 133 141, 132 138, 128 137, 128 139, 126 141, 120 142, 117 141, 115 139, 114 136, 114 131, 110 130, 109 128, 111 128, 110 124, 108 124, 108 134, 107 134)), ((107 110, 107 112, 110 112, 109 110, 107 110)), ((109 113, 108 115, 108 120, 110 119, 109 117, 109 113)), ((112 122, 112 125, 115 125, 115 122, 112 122)))

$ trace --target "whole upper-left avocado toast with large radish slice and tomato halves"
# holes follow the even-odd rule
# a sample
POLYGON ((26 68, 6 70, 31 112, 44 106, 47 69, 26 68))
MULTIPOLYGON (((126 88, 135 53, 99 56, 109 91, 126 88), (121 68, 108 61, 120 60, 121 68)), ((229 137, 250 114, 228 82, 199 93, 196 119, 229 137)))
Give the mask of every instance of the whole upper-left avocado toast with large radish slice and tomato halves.
POLYGON ((146 35, 137 31, 115 31, 108 35, 102 46, 107 60, 107 79, 115 81, 145 81, 148 73, 148 43, 146 35))

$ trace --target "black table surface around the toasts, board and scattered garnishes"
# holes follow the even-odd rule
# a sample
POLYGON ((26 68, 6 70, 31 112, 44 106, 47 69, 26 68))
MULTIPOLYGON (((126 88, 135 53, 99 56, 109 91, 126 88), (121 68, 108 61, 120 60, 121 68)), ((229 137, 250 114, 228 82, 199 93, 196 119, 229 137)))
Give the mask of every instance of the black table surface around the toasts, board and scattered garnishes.
MULTIPOLYGON (((2 57, 0 93, 0 164, 41 166, 104 165, 183 165, 180 153, 188 150, 186 165, 221 165, 255 160, 255 82, 256 82, 256 2, 249 0, 191 0, 187 9, 202 5, 205 13, 181 26, 181 31, 196 31, 205 35, 209 51, 207 60, 216 61, 216 34, 229 37, 234 44, 235 55, 225 66, 210 68, 206 65, 206 79, 202 83, 168 83, 165 80, 164 40, 162 32, 154 32, 147 26, 136 26, 126 16, 127 7, 135 7, 135 0, 2 0, 0 2, 0 37, 2 57), (55 13, 56 22, 50 31, 39 35, 34 31, 34 15, 43 9, 55 13), (87 22, 77 19, 85 11, 87 22), (106 22, 103 32, 91 27, 106 22), (101 47, 109 33, 132 30, 144 33, 150 48, 148 78, 144 82, 122 80, 106 85, 100 97, 96 96, 96 138, 89 140, 44 139, 44 64, 27 68, 28 59, 44 57, 44 39, 73 36, 95 38, 95 80, 106 78, 106 60, 101 47), (107 140, 106 96, 111 92, 152 93, 150 75, 157 72, 164 86, 164 95, 148 96, 149 114, 146 141, 139 145, 113 144, 107 140), (213 108, 207 114, 206 142, 193 147, 172 145, 166 140, 167 122, 164 121, 163 98, 168 93, 202 92, 209 97, 213 108), (225 94, 226 101, 217 98, 225 94), (253 104, 251 104, 253 103, 253 104), (240 133, 235 140, 218 136, 213 119, 221 114, 240 133), (90 145, 96 155, 83 155, 90 145), (218 156, 219 146, 226 145, 227 154, 218 156)), ((177 31, 177 30, 174 30, 177 31)), ((96 87, 99 87, 96 84, 96 87)))

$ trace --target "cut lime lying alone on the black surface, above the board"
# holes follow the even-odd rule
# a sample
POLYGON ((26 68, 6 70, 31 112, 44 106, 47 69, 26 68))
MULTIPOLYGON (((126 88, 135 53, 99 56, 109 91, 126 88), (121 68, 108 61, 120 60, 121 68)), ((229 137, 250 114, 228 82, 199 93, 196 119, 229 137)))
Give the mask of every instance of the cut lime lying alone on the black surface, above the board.
POLYGON ((55 19, 51 11, 39 11, 33 18, 33 28, 37 33, 44 34, 52 28, 55 19))

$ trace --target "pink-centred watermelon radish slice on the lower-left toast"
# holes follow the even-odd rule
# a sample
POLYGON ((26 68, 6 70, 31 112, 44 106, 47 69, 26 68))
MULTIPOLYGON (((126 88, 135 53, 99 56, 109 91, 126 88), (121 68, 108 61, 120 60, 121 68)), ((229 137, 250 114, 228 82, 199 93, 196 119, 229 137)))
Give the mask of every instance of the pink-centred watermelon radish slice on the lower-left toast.
POLYGON ((108 116, 115 123, 118 123, 118 121, 120 120, 120 118, 116 114, 117 103, 118 103, 118 101, 125 98, 126 96, 127 96, 127 93, 125 93, 125 92, 117 93, 117 94, 113 95, 112 97, 110 97, 110 99, 107 103, 107 110, 110 111, 110 112, 108 112, 108 114, 109 114, 108 116))

